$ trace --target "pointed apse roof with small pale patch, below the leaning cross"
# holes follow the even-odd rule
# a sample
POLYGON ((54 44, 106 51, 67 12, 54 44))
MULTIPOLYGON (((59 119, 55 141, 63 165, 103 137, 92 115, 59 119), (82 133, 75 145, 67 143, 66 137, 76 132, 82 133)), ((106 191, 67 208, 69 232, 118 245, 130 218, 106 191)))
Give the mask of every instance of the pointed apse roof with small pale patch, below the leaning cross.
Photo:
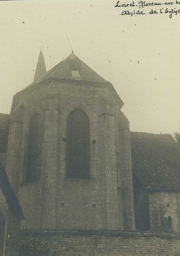
MULTIPOLYGON (((41 78, 31 83, 28 87, 33 86, 35 83, 42 82, 48 78, 57 79, 74 79, 84 80, 89 82, 107 82, 95 71, 88 67, 82 60, 80 60, 74 53, 71 53, 66 59, 51 68, 46 74, 42 75, 41 78), (72 76, 71 71, 78 71, 80 78, 72 76)), ((28 88, 26 87, 26 88, 28 88)))

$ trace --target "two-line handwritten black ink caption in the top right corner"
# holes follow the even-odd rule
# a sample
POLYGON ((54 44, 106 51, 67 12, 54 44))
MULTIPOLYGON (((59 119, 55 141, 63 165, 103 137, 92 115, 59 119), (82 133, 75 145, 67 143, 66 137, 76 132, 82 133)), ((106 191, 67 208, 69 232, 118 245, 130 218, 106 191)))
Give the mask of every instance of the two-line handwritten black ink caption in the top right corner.
POLYGON ((131 1, 130 3, 121 3, 121 1, 118 1, 115 7, 121 7, 124 9, 119 15, 133 16, 134 14, 168 14, 169 18, 171 19, 173 15, 180 14, 180 9, 177 8, 177 6, 179 5, 180 0, 151 3, 148 3, 146 1, 138 1, 138 3, 136 3, 135 1, 131 1), (130 7, 134 7, 134 9, 136 10, 132 11, 130 7))

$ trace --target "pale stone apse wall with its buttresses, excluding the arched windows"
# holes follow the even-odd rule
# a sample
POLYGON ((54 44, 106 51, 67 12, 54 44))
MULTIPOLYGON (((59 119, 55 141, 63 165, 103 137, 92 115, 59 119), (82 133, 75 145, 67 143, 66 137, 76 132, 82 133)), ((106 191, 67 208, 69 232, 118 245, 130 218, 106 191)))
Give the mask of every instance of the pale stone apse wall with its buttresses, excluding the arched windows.
MULTIPOLYGON (((123 214, 126 212, 126 217, 128 219, 129 215, 130 220, 129 223, 127 221, 124 223, 124 229, 134 229, 129 122, 123 114, 120 114, 122 112, 118 101, 111 95, 106 84, 79 83, 79 81, 70 83, 47 81, 42 86, 24 90, 14 97, 14 100, 19 98, 19 102, 16 102, 17 106, 11 113, 11 120, 16 122, 12 123, 12 129, 9 129, 7 170, 8 172, 10 170, 9 179, 13 177, 15 179, 16 176, 16 181, 19 182, 17 195, 26 217, 21 224, 23 229, 123 229, 122 212, 123 214), (103 105, 113 106, 113 113, 108 113, 108 108, 102 108, 103 105), (89 117, 89 180, 70 179, 65 173, 66 120, 75 108, 82 109, 89 117), (41 177, 34 184, 26 184, 24 174, 28 125, 35 113, 42 116, 44 123, 41 177), (104 125, 102 114, 109 116, 107 127, 102 127, 104 125), (113 127, 111 127, 111 119, 114 120, 113 127), (119 124, 123 124, 124 127, 119 128, 119 124), (14 128, 13 125, 16 127, 14 128), (106 137, 103 139, 102 129, 106 131, 106 137), (120 136, 119 129, 124 130, 123 136, 120 136), (106 148, 103 146, 104 142, 108 142, 106 148), (119 157, 121 154, 122 156, 119 157), (112 157, 109 157, 110 155, 112 157), (117 164, 119 165, 117 158, 122 159, 123 156, 125 159, 123 166, 118 167, 117 181, 116 169, 117 164), (106 162, 105 166, 103 166, 104 162, 106 162), (113 177, 110 175, 112 172, 113 177), (122 172, 127 173, 122 175, 122 178, 128 176, 122 186, 123 203, 120 185, 122 172), (109 192, 111 196, 108 198, 109 192), (112 210, 111 202, 114 195, 115 207, 112 210), (104 216, 103 212, 106 212, 104 216)), ((15 187, 16 184, 17 182, 14 183, 15 187)))

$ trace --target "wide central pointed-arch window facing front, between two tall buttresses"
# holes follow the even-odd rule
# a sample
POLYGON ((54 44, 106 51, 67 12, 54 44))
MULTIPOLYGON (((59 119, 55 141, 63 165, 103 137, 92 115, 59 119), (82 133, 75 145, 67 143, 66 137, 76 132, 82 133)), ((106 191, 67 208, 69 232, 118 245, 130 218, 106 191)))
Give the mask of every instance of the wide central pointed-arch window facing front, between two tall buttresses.
POLYGON ((68 116, 66 176, 89 178, 89 119, 80 109, 68 116))

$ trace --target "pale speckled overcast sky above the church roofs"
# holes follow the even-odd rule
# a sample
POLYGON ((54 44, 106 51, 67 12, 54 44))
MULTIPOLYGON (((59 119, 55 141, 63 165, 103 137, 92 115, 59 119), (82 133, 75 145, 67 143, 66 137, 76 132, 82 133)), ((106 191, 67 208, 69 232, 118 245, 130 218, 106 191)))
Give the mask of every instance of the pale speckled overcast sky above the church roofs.
POLYGON ((114 85, 131 131, 180 132, 180 14, 120 16, 115 4, 0 1, 0 112, 33 81, 41 40, 47 70, 71 53, 67 33, 74 53, 114 85))

